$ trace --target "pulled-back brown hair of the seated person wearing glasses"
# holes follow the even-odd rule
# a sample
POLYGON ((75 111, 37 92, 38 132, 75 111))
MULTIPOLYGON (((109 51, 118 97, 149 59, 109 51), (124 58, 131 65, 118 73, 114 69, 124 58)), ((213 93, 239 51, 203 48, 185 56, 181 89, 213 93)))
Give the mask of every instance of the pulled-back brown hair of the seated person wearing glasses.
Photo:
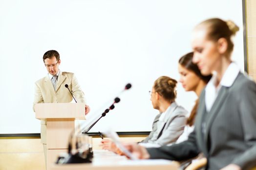
POLYGON ((161 76, 159 77, 153 85, 154 90, 159 93, 165 100, 169 102, 173 102, 176 99, 176 84, 177 81, 167 77, 161 76))

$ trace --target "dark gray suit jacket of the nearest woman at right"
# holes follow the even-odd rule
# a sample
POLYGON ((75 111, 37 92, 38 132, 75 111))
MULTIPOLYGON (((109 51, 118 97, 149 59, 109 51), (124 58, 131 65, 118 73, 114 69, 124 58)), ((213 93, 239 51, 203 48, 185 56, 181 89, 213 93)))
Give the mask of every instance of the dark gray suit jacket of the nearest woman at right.
POLYGON ((185 160, 203 152, 209 170, 228 164, 242 170, 256 166, 256 84, 239 73, 231 87, 222 86, 208 113, 200 96, 195 129, 187 141, 148 149, 151 158, 185 160))

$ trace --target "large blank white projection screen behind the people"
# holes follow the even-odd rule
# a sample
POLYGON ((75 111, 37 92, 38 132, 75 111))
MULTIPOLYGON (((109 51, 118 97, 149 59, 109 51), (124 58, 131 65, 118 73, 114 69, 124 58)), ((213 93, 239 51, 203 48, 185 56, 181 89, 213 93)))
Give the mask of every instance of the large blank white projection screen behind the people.
MULTIPOLYGON (((193 27, 204 19, 233 20, 233 60, 244 71, 242 0, 0 0, 0 134, 40 133, 32 110, 34 83, 47 75, 43 54, 57 50, 60 69, 74 72, 91 112, 121 102, 90 132, 151 131, 158 113, 149 90, 162 75, 179 80, 178 59, 192 51, 193 27), (127 83, 132 88, 120 94, 127 83)), ((177 87, 188 111, 196 99, 177 87)))

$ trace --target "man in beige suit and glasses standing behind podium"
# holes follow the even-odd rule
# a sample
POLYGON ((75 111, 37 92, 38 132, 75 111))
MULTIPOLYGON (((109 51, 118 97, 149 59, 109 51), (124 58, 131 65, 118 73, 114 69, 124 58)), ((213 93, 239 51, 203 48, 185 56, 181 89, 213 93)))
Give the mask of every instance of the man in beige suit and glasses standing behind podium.
MULTIPOLYGON (((49 102, 71 102, 72 95, 65 87, 73 93, 77 102, 85 103, 85 95, 82 91, 78 81, 71 72, 62 72, 59 69, 61 64, 60 54, 58 51, 50 50, 44 53, 43 62, 48 71, 48 74, 35 83, 35 98, 33 109, 35 111, 36 103, 49 103, 49 102)), ((90 107, 85 105, 85 115, 90 111, 90 107)), ((46 163, 46 121, 41 121, 41 142, 43 143, 43 151, 46 163)))

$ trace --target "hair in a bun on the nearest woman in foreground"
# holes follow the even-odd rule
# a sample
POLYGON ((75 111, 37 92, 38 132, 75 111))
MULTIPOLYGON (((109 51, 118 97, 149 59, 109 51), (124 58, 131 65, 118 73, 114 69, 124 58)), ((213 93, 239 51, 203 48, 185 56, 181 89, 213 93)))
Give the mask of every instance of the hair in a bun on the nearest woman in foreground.
POLYGON ((196 28, 206 26, 208 29, 207 37, 217 41, 220 38, 225 38, 228 43, 227 51, 231 53, 234 48, 234 43, 231 40, 232 35, 235 35, 239 28, 231 20, 224 21, 219 18, 211 18, 201 22, 196 28))

